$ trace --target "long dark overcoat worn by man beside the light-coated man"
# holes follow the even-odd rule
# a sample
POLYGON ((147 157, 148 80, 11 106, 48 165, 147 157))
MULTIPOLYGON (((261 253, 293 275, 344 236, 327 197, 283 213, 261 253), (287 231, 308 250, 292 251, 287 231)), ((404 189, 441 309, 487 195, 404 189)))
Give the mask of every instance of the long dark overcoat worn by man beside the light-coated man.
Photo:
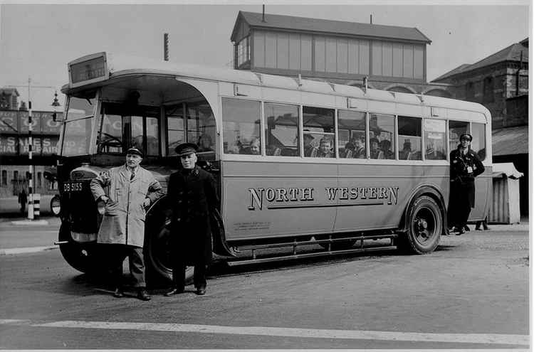
POLYGON ((171 245, 187 264, 211 260, 210 214, 219 207, 215 179, 195 166, 171 174, 167 200, 172 208, 171 245))

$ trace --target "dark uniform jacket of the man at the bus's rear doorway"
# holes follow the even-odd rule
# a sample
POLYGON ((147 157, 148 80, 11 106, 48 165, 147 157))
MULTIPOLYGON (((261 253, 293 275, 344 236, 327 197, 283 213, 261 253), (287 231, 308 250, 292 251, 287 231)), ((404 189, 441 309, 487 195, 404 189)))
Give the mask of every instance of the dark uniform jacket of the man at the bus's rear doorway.
POLYGON ((465 155, 460 148, 451 151, 451 196, 449 207, 468 203, 475 207, 475 177, 484 172, 484 166, 474 151, 468 149, 465 155), (469 169, 471 168, 471 169, 469 169))

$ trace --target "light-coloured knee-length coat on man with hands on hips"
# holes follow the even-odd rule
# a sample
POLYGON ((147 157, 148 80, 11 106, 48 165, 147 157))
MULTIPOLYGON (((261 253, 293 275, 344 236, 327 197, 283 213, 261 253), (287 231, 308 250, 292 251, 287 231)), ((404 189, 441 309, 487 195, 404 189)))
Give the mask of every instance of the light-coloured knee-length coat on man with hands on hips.
POLYGON ((105 205, 97 242, 143 247, 146 215, 143 202, 149 198, 152 204, 164 196, 162 186, 152 173, 139 166, 130 181, 127 166, 122 165, 93 178, 90 188, 95 200, 104 195, 110 198, 105 205))

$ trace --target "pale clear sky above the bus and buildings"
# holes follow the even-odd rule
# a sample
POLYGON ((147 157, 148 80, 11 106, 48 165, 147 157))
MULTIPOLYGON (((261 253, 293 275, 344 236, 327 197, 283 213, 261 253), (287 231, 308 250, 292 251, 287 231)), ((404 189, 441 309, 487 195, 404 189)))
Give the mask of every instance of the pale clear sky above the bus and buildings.
MULTIPOLYGON (((243 4, 21 4, 0 0, 0 87, 17 86, 33 110, 51 111, 53 93, 68 83, 67 63, 100 51, 162 60, 169 33, 170 60, 229 67, 239 11, 261 13, 262 2, 243 4)), ((530 36, 529 0, 449 0, 402 4, 375 0, 266 4, 267 14, 415 27, 431 40, 426 78, 476 63, 530 36), (446 5, 449 4, 449 5, 446 5), (453 4, 453 5, 450 5, 453 4)))

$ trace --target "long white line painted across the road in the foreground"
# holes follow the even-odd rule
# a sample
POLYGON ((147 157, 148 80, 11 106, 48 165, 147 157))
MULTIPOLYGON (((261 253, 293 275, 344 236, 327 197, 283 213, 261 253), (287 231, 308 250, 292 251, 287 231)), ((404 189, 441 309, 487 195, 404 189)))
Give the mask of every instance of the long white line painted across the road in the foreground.
POLYGON ((273 326, 217 326, 199 324, 134 323, 113 321, 53 321, 31 322, 22 319, 0 319, 0 324, 30 325, 48 328, 73 329, 115 329, 141 331, 189 332, 200 334, 231 334, 256 336, 283 336, 298 338, 340 338, 352 340, 382 340, 410 342, 449 342, 449 343, 486 343, 499 345, 525 345, 530 343, 528 335, 508 334, 433 334, 402 331, 365 331, 298 329, 273 326))

